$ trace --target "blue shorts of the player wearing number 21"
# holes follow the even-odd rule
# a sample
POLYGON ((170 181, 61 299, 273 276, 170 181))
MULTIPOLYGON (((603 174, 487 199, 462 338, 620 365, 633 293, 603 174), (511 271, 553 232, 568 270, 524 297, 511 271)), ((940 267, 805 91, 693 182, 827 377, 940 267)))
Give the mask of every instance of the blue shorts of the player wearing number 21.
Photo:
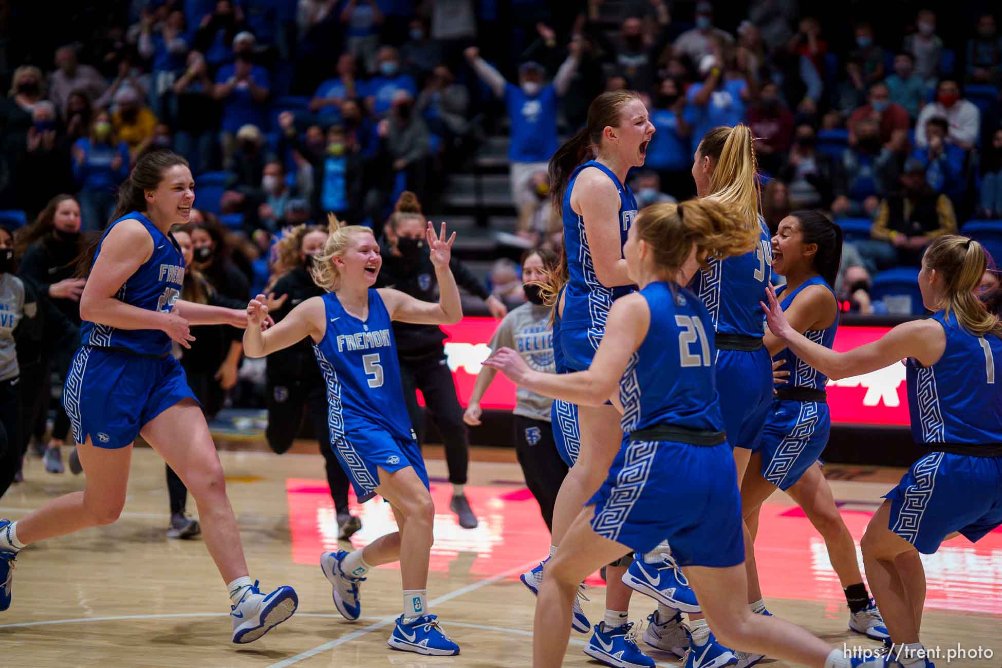
POLYGON ((595 507, 594 532, 634 552, 650 552, 666 540, 679 566, 744 562, 737 475, 726 443, 624 439, 588 505, 595 507))

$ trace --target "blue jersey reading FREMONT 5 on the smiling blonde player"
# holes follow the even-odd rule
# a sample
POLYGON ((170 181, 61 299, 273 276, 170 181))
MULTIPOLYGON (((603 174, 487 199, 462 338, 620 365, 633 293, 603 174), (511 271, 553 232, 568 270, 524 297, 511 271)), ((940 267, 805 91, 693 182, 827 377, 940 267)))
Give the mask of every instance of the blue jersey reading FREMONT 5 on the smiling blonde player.
POLYGON ((322 298, 327 325, 323 341, 313 349, 327 383, 332 442, 337 444, 346 432, 374 427, 398 439, 413 439, 397 343, 383 297, 376 289, 369 289, 365 321, 345 310, 334 292, 322 298))

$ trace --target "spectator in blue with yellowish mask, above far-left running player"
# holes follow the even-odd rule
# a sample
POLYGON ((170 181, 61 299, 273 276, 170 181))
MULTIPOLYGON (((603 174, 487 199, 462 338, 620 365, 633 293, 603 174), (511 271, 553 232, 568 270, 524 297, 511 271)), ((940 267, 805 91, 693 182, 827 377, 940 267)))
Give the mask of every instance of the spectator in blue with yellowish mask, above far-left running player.
POLYGON ((128 145, 118 138, 108 112, 100 111, 90 135, 77 139, 72 152, 84 229, 101 229, 115 210, 118 186, 128 177, 128 145))

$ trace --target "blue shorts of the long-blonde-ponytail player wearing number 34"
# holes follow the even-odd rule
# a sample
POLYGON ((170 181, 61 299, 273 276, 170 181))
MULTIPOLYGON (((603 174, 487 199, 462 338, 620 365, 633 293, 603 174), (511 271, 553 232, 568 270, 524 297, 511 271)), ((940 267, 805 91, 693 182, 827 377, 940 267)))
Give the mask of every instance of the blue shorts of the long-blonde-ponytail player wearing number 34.
POLYGON ((717 351, 716 392, 727 442, 755 450, 773 403, 773 361, 769 351, 717 351))

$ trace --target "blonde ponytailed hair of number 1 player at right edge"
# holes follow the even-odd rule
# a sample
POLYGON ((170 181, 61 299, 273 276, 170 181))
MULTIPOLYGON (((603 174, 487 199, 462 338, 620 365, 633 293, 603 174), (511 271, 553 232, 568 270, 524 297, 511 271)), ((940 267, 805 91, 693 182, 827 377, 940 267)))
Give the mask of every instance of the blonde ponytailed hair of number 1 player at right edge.
POLYGON ((922 263, 943 279, 946 289, 941 306, 947 314, 955 312, 960 324, 976 337, 1002 338, 999 318, 988 312, 975 293, 988 267, 984 246, 966 236, 947 234, 929 244, 922 263))

